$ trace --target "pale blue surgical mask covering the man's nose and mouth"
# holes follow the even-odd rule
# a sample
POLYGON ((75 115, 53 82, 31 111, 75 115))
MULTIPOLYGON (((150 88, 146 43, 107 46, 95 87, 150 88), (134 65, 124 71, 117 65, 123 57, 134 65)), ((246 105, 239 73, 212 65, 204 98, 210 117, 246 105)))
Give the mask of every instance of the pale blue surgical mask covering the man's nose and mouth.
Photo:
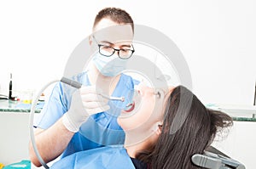
POLYGON ((116 54, 106 57, 99 53, 96 53, 92 60, 97 70, 104 76, 119 75, 121 71, 125 70, 127 62, 126 59, 119 59, 119 56, 116 54))

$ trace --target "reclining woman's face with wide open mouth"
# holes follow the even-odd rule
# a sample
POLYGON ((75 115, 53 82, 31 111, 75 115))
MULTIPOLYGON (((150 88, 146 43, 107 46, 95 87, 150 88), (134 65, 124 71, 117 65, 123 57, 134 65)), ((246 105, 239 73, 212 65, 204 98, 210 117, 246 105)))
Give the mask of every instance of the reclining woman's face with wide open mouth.
POLYGON ((163 120, 166 99, 171 89, 153 89, 140 84, 137 87, 133 104, 128 110, 122 110, 118 123, 125 132, 138 130, 143 132, 150 129, 155 123, 163 120))

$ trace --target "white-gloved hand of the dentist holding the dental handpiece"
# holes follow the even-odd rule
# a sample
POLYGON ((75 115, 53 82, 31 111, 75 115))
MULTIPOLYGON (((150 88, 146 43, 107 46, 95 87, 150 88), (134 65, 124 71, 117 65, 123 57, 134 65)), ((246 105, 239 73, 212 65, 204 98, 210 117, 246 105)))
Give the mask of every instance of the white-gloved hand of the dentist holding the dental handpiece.
POLYGON ((90 115, 109 109, 108 99, 96 93, 95 86, 83 86, 73 93, 70 108, 63 115, 62 122, 70 132, 78 132, 90 115))

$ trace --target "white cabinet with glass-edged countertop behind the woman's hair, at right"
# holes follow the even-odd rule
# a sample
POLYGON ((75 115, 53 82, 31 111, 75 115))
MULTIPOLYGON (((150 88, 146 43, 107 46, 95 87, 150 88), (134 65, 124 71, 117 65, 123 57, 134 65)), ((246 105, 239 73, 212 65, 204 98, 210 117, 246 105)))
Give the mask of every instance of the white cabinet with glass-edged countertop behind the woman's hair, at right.
POLYGON ((240 161, 247 169, 255 168, 256 106, 233 104, 208 104, 206 106, 227 113, 234 121, 233 127, 217 135, 212 145, 240 161))

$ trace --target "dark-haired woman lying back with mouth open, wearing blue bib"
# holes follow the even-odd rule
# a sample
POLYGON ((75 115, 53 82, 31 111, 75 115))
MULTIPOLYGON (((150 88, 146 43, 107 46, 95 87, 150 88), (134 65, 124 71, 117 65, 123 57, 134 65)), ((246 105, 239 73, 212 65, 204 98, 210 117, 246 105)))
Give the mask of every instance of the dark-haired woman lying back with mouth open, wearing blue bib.
POLYGON ((200 168, 191 156, 203 154, 217 132, 232 126, 229 115, 208 110, 186 87, 138 89, 118 118, 124 145, 81 151, 52 168, 200 168))

